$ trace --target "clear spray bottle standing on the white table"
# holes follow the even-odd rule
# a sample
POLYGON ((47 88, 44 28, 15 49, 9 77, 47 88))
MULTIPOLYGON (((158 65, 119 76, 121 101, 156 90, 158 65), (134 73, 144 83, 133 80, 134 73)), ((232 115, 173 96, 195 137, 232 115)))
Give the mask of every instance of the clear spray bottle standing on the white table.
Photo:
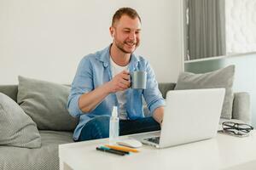
POLYGON ((114 143, 119 137, 119 117, 117 106, 113 106, 112 116, 109 122, 109 142, 114 143))

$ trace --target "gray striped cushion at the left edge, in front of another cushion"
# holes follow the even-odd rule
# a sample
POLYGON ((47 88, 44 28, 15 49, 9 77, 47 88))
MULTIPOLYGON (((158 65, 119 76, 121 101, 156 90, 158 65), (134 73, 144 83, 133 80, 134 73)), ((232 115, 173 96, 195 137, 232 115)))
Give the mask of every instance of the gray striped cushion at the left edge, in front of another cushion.
POLYGON ((0 144, 38 148, 41 137, 35 122, 9 96, 0 93, 0 144))

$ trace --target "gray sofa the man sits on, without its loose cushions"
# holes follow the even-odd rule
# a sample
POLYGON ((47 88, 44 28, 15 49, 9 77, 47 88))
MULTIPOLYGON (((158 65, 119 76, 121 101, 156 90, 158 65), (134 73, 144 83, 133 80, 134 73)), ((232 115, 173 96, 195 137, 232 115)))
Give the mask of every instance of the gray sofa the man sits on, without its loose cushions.
MULTIPOLYGON (((166 97, 166 92, 172 90, 175 83, 160 83, 160 92, 166 97)), ((0 93, 8 95, 17 101, 17 85, 0 85, 0 93)), ((247 93, 234 95, 232 119, 250 122, 250 103, 247 93)), ((52 103, 52 105, 55 105, 52 103)), ((52 116, 55 116, 52 113, 52 116)), ((57 122, 55 122, 57 123, 57 122)), ((73 142, 73 130, 46 130, 38 127, 42 145, 36 149, 0 145, 0 169, 59 169, 58 144, 73 142)), ((0 137, 1 138, 1 137, 0 137)))

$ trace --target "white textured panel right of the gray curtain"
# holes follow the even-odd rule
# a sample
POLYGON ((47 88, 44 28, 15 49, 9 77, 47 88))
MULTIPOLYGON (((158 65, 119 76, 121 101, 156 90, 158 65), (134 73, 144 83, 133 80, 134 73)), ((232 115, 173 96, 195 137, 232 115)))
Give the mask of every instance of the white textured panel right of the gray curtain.
POLYGON ((227 54, 256 52, 256 1, 225 0, 227 54))

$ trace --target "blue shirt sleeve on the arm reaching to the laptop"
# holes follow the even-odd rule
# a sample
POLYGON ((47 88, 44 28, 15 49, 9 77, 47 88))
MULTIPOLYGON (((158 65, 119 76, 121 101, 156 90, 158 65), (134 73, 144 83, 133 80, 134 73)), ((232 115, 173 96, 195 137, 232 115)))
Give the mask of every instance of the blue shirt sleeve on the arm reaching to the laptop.
POLYGON ((148 62, 146 62, 146 71, 147 88, 143 90, 143 97, 148 105, 150 114, 153 114, 156 108, 164 106, 166 103, 158 88, 158 83, 155 80, 154 71, 148 62))

